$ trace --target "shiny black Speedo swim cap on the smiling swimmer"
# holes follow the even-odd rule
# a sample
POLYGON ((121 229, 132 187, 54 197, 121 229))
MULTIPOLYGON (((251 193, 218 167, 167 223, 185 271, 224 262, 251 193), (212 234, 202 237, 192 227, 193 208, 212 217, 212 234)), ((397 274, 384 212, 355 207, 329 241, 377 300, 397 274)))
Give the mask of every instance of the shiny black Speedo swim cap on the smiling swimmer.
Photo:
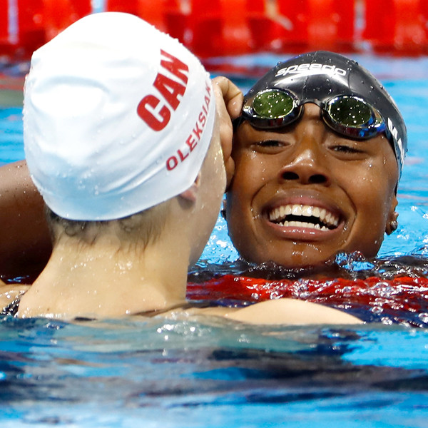
POLYGON ((377 78, 356 61, 328 51, 296 56, 268 71, 245 95, 245 101, 268 88, 287 89, 302 101, 326 101, 339 95, 359 96, 381 114, 401 175, 407 151, 404 120, 394 100, 377 78))

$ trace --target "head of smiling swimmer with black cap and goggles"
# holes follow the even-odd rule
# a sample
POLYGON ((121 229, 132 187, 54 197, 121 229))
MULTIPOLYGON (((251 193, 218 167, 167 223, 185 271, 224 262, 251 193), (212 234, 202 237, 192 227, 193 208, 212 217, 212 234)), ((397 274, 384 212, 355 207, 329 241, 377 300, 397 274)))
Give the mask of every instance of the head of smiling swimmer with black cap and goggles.
POLYGON ((286 267, 374 257, 397 229, 407 132, 371 73, 327 51, 278 63, 235 123, 226 218, 240 255, 286 267))

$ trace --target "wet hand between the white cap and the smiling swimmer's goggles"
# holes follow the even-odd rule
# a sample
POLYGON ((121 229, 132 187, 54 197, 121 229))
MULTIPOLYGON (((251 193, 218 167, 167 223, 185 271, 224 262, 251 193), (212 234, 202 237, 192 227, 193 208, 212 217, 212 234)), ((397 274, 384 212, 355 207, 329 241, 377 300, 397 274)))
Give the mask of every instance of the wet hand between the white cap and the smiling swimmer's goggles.
POLYGON ((213 90, 220 124, 220 141, 226 169, 227 190, 235 172, 235 162, 230 157, 233 140, 232 121, 240 115, 244 96, 238 86, 223 76, 213 78, 213 90))

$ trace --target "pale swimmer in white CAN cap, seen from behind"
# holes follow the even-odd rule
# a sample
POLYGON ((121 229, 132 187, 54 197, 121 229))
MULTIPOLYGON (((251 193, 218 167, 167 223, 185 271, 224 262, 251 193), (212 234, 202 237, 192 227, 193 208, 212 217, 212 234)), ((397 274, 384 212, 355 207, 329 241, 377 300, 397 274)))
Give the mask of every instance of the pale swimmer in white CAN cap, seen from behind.
MULTIPOLYGON (((218 86, 233 104, 239 91, 218 86)), ((36 51, 24 88, 24 148, 53 250, 3 314, 70 320, 173 310, 263 324, 359 322, 296 300, 243 309, 185 302, 188 266, 225 190, 225 108, 198 59, 133 15, 86 16, 36 51)))

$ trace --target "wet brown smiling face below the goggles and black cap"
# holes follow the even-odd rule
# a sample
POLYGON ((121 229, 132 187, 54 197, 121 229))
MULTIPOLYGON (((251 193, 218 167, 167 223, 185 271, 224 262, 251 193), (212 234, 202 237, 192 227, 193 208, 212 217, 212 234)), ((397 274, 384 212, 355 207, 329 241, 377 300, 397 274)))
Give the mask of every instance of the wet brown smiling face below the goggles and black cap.
POLYGON ((303 267, 340 251, 374 257, 397 217, 398 168, 387 138, 339 136, 315 104, 277 132, 243 123, 232 156, 229 234, 250 262, 303 267))

